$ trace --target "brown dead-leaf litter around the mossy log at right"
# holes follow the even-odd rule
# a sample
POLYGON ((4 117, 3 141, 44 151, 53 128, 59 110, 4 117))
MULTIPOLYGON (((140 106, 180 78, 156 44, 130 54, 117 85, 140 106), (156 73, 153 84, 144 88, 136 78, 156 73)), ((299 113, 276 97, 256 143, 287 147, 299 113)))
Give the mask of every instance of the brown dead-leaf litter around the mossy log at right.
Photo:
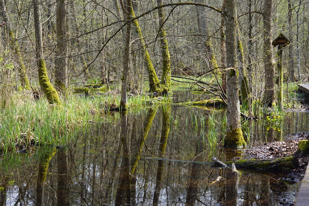
MULTIPOLYGON (((286 141, 274 141, 269 143, 264 143, 261 146, 245 149, 244 159, 270 159, 270 158, 280 158, 288 157, 293 155, 297 148, 298 142, 301 140, 309 140, 309 132, 300 132, 292 134, 292 136, 286 137, 286 141)), ((305 175, 309 156, 299 158, 299 167, 282 177, 285 181, 298 182, 303 179, 305 175)))

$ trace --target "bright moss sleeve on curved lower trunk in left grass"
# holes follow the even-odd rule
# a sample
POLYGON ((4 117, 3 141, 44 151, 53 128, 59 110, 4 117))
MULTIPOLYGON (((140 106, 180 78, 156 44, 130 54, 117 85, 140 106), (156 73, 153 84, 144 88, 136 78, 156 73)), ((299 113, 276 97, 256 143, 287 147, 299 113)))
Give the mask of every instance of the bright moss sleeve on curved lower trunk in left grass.
POLYGON ((39 82, 48 102, 50 104, 61 105, 58 93, 48 78, 44 59, 41 59, 39 62, 39 82))

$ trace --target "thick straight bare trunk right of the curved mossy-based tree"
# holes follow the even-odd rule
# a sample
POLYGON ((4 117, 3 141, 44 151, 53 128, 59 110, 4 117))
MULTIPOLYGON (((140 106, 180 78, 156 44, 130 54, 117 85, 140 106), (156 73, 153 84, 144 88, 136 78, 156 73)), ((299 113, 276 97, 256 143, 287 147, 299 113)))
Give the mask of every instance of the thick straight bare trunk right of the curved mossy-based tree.
POLYGON ((55 70, 55 85, 58 91, 64 92, 68 86, 68 41, 66 32, 66 2, 57 1, 57 59, 55 70))

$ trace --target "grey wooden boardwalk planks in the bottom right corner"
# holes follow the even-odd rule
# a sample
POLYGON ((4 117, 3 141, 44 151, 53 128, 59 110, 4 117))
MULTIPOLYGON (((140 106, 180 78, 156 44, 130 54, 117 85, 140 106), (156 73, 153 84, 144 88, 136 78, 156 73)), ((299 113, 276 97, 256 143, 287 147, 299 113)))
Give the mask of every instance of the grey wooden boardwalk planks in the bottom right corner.
POLYGON ((295 206, 309 205, 309 164, 307 165, 306 173, 300 185, 295 206))

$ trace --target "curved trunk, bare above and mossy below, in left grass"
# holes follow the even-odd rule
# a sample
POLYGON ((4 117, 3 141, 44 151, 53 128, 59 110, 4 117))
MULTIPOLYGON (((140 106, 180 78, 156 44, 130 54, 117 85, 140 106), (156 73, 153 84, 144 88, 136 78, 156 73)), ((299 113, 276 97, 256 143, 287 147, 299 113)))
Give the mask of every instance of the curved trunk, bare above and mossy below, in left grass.
POLYGON ((32 0, 32 2, 33 2, 34 27, 36 35, 36 62, 39 71, 39 83, 48 102, 50 104, 61 105, 58 93, 52 86, 46 70, 44 54, 43 54, 43 33, 42 33, 43 29, 42 29, 42 22, 39 8, 40 4, 38 0, 32 0))

